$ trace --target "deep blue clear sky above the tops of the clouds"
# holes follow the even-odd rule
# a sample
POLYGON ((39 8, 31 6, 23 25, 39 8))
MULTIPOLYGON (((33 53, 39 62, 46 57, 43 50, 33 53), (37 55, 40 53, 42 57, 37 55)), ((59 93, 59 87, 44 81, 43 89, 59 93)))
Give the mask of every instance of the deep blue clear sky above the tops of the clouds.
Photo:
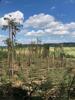
POLYGON ((0 16, 20 10, 25 18, 46 13, 63 22, 75 21, 75 0, 1 0, 0 16))

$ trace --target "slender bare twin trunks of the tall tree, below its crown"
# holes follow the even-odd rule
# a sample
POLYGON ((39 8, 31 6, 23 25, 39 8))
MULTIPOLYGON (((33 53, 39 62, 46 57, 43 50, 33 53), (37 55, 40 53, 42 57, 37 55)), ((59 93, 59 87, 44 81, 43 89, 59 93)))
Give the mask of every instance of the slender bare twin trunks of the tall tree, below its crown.
POLYGON ((9 25, 9 42, 8 46, 8 62, 9 62, 9 78, 13 76, 14 46, 13 46, 13 27, 9 25))

